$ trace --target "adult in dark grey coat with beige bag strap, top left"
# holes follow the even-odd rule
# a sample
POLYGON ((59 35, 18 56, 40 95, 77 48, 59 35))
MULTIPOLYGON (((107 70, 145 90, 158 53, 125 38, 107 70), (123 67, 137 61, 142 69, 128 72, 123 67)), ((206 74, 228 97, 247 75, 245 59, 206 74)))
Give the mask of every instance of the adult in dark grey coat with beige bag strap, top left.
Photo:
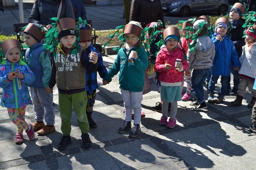
POLYGON ((48 25, 52 24, 53 21, 51 18, 53 17, 75 18, 70 0, 36 0, 28 18, 28 22, 48 25), (62 7, 60 16, 58 17, 60 4, 62 4, 62 7))

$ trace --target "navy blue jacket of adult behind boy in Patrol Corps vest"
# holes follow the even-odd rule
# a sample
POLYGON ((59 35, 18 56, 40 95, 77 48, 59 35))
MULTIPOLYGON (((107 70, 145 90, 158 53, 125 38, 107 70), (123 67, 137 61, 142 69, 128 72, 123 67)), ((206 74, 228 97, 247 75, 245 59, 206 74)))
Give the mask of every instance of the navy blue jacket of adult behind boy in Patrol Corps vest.
POLYGON ((83 0, 70 0, 70 2, 73 6, 76 21, 78 20, 78 17, 81 17, 83 20, 87 20, 83 0))

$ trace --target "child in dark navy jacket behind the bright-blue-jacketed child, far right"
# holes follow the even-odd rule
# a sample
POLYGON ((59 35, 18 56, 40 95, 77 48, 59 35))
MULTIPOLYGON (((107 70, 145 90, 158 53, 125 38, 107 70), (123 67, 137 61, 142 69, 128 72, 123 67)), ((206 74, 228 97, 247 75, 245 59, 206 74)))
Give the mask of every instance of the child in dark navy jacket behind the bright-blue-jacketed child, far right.
MULTIPOLYGON (((238 54, 238 60, 240 56, 242 55, 242 46, 245 45, 244 41, 244 19, 242 19, 242 14, 245 13, 245 7, 241 3, 235 3, 233 7, 231 8, 229 12, 229 23, 232 25, 232 29, 230 30, 231 36, 229 37, 231 41, 233 41, 233 44, 236 48, 236 52, 238 54)), ((238 78, 238 71, 233 69, 233 65, 231 68, 231 73, 233 74, 233 82, 234 86, 232 91, 230 87, 230 76, 228 77, 228 87, 226 95, 230 96, 236 96, 238 92, 238 84, 239 84, 239 78, 238 78), (230 92, 230 93, 229 93, 230 92)))

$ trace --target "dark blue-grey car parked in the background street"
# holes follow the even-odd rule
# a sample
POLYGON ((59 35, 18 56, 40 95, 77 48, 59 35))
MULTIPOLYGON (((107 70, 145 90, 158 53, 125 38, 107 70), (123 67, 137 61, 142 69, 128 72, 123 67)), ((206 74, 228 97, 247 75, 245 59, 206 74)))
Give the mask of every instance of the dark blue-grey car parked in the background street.
POLYGON ((164 14, 186 17, 195 13, 218 12, 219 15, 228 11, 228 0, 165 0, 164 14))

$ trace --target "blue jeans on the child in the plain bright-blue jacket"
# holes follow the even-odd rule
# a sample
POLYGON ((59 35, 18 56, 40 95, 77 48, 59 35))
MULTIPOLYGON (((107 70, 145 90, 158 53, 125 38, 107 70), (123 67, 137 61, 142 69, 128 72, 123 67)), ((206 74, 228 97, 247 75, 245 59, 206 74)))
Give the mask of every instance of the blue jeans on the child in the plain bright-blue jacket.
MULTIPOLYGON (((219 77, 220 77, 219 75, 212 75, 212 78, 208 86, 209 93, 214 93, 215 84, 217 84, 219 77)), ((224 97, 228 87, 228 75, 221 75, 220 83, 221 83, 221 86, 220 86, 219 96, 224 97)))

